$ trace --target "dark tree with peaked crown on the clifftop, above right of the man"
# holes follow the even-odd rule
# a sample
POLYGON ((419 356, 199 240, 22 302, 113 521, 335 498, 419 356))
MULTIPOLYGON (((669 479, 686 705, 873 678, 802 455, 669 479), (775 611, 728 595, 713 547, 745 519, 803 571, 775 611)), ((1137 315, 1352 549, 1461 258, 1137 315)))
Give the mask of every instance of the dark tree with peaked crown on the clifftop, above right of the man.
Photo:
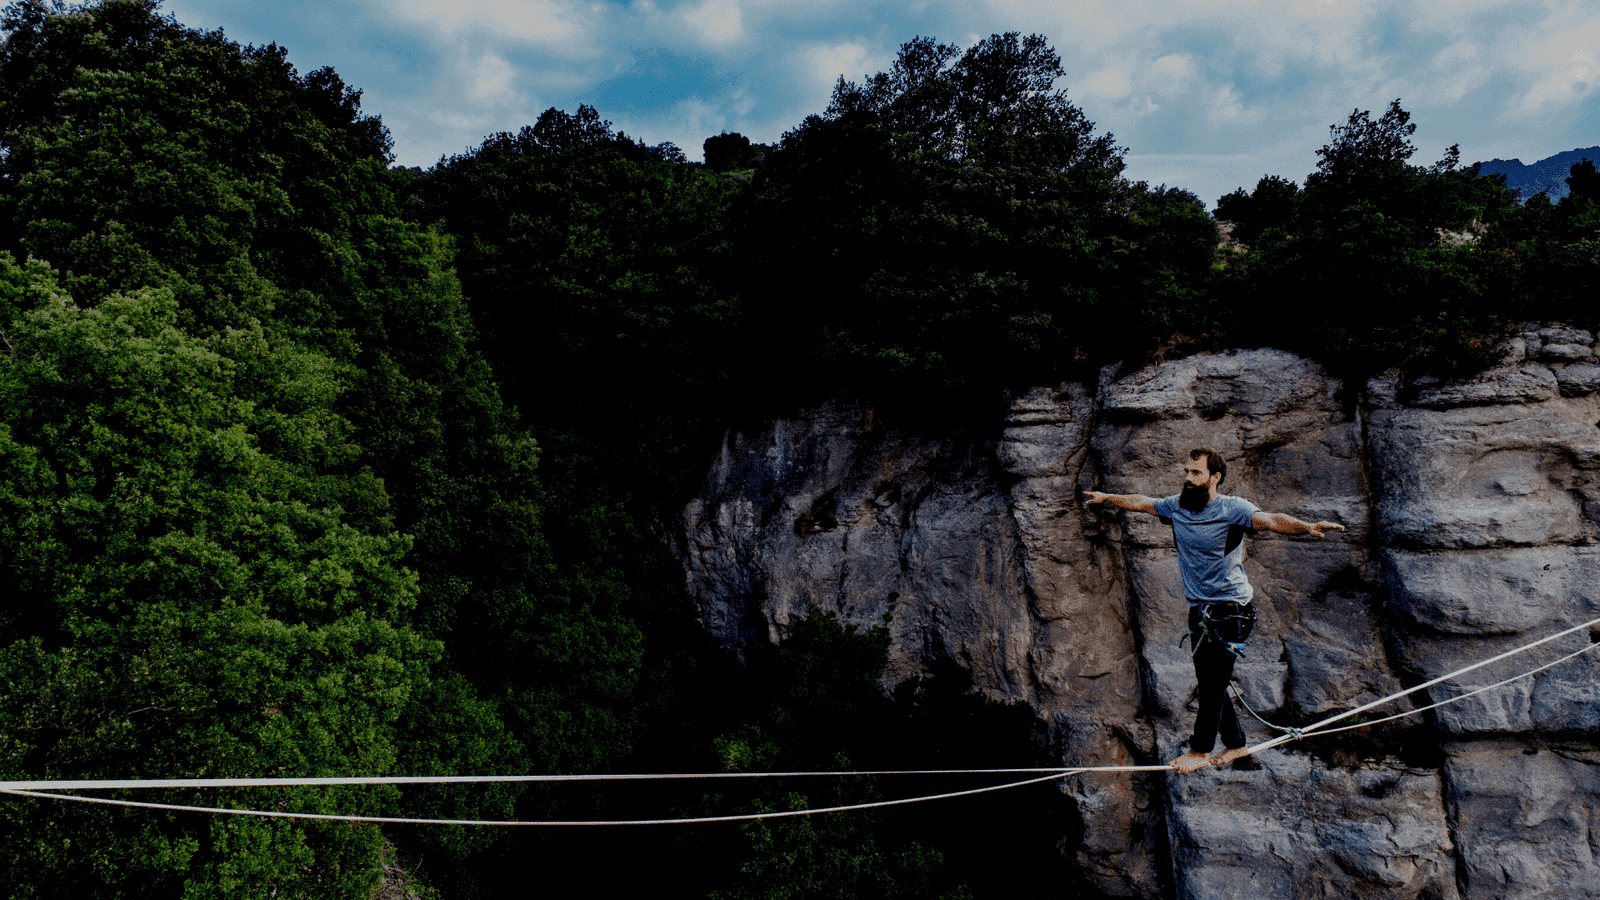
MULTIPOLYGON (((1408 163, 1416 125, 1400 101, 1378 120, 1355 110, 1330 127, 1304 191, 1262 178, 1218 202, 1250 243, 1218 291, 1222 330, 1323 359, 1352 376, 1389 365, 1462 373, 1493 362, 1507 312, 1483 275, 1483 248, 1448 232, 1509 215, 1502 179, 1408 163), (1296 328, 1282 299, 1296 298, 1296 328)), ((1477 232, 1474 232, 1477 234, 1477 232)))

